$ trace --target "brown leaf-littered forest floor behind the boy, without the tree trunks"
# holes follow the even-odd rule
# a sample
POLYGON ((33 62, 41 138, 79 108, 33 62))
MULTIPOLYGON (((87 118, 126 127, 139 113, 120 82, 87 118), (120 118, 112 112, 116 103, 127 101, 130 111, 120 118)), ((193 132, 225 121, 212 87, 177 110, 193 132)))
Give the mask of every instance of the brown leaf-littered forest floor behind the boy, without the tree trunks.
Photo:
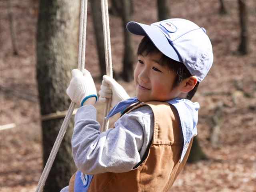
MULTIPOLYGON (((43 164, 36 82, 38 1, 10 2, 18 55, 13 54, 8 4, 1 0, 0 125, 15 125, 0 132, 0 191, 34 191, 43 164)), ((212 69, 193 98, 200 103, 197 138, 208 159, 186 164, 173 191, 256 190, 256 1, 245 1, 250 34, 250 52, 246 55, 237 51, 240 44, 238 1, 223 2, 227 14, 220 14, 218 0, 168 2, 172 18, 192 20, 207 30, 214 51, 212 69), (220 129, 218 142, 212 144, 216 126, 220 129)), ((158 20, 156 1, 134 0, 133 7, 132 20, 146 24, 158 20)), ((90 4, 87 25, 86 68, 99 88, 101 74, 90 4)), ((110 33, 113 66, 118 74, 122 72, 124 36, 122 21, 114 15, 110 15, 110 33)), ((134 51, 140 39, 132 36, 134 51)), ((118 82, 134 96, 133 82, 121 79, 118 82)), ((104 106, 98 103, 96 107, 101 122, 104 106)))

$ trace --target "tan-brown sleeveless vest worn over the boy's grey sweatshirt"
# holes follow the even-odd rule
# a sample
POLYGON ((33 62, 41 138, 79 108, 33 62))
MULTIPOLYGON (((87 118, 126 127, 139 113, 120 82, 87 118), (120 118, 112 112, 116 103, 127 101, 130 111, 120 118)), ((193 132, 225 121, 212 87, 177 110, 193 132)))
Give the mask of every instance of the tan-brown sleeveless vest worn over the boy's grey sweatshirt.
MULTIPOLYGON (((128 108, 127 113, 148 105, 154 113, 154 134, 152 144, 145 160, 129 172, 106 172, 95 174, 88 192, 102 191, 167 191, 188 159, 192 141, 184 159, 180 163, 183 147, 183 136, 176 109, 166 102, 146 102, 128 108)), ((74 176, 69 182, 69 191, 74 191, 74 176)))

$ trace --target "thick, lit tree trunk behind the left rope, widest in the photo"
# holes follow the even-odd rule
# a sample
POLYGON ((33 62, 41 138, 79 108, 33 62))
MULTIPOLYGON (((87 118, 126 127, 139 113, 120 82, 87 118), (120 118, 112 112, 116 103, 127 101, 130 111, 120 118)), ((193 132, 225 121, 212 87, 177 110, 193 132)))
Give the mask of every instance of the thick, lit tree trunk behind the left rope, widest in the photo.
MULTIPOLYGON (((37 28, 37 81, 41 115, 68 109, 66 94, 77 67, 80 1, 41 0, 37 28)), ((44 166, 64 118, 42 121, 44 166)), ((60 191, 76 171, 71 152, 74 120, 62 141, 44 192, 60 191)))

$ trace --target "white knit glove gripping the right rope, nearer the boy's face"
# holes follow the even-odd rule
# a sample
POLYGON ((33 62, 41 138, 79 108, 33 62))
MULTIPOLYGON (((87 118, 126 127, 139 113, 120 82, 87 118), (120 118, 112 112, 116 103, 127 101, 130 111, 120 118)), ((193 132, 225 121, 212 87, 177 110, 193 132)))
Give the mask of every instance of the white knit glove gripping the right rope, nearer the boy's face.
POLYGON ((110 76, 104 75, 100 86, 100 102, 106 103, 107 98, 112 98, 111 107, 120 101, 130 98, 124 88, 110 76))

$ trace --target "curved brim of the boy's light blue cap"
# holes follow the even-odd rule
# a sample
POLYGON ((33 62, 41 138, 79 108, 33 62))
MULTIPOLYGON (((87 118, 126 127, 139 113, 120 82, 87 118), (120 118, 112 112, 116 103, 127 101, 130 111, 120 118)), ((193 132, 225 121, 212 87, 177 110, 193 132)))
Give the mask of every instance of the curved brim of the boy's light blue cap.
POLYGON ((133 34, 142 36, 147 35, 160 52, 173 60, 182 62, 178 52, 176 52, 164 33, 157 27, 131 21, 128 22, 126 28, 133 34))

